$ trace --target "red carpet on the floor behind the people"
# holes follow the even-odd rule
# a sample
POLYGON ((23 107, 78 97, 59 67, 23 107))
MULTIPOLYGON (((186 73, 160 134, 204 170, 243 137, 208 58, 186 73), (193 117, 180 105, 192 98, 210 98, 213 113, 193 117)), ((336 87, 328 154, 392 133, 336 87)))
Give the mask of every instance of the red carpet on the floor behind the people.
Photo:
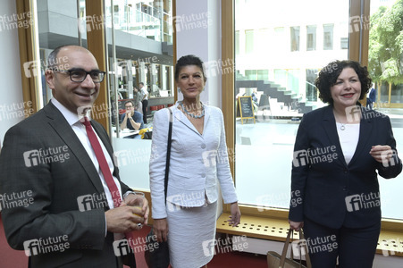
MULTIPOLYGON (((140 230, 139 236, 145 237, 150 230, 146 226, 140 230)), ((138 268, 147 268, 144 253, 136 254, 138 268)), ((4 235, 3 222, 0 215, 0 267, 26 268, 28 267, 28 257, 23 251, 13 250, 8 246, 4 235)), ((208 264, 208 268, 266 268, 267 263, 264 255, 254 255, 241 252, 229 252, 214 255, 213 261, 208 264)))

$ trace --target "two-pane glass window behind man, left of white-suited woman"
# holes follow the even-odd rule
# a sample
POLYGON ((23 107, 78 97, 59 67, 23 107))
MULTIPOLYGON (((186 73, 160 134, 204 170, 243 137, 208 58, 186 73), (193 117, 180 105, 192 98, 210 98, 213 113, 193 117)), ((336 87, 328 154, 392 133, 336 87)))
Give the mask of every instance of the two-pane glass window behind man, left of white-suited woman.
MULTIPOLYGON (((148 93, 144 129, 153 126, 155 111, 173 104, 172 0, 130 2, 114 0, 111 6, 111 1, 105 1, 104 15, 89 16, 84 0, 80 0, 79 7, 76 0, 63 1, 62 5, 57 1, 38 0, 39 17, 43 18, 38 21, 39 44, 45 68, 47 55, 56 46, 87 47, 88 32, 105 27, 109 73, 104 83, 107 83, 109 99, 100 108, 107 107, 110 113, 102 116, 104 119, 107 116, 111 123, 110 134, 122 180, 130 186, 147 189, 151 140, 139 138, 139 131, 121 130, 122 117, 126 112, 125 103, 136 101, 139 96, 135 88, 139 88, 140 82, 148 93), (139 139, 132 138, 133 135, 139 139)), ((43 89, 42 96, 45 103, 52 97, 48 88, 43 89)), ((141 107, 137 111, 143 113, 141 107)))

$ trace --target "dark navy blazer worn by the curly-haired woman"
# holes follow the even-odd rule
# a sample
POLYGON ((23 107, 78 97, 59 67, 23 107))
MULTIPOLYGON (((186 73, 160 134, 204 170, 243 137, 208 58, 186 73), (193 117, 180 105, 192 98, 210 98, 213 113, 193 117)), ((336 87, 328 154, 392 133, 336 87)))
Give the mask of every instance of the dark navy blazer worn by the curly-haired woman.
MULTIPOLYGON (((362 109, 355 154, 347 164, 340 147, 332 105, 304 114, 294 147, 289 219, 304 217, 329 228, 361 228, 381 220, 377 172, 385 179, 402 170, 390 119, 362 109), (372 146, 395 150, 390 163, 378 163, 372 146)), ((354 114, 353 114, 354 115, 354 114)))

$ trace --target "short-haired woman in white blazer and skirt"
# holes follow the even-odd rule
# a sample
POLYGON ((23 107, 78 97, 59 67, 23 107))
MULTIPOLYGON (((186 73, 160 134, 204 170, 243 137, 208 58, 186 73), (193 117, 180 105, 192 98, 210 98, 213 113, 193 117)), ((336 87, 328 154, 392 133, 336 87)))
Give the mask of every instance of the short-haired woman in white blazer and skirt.
POLYGON ((228 162, 220 109, 203 105, 200 93, 206 75, 195 55, 176 63, 175 80, 183 100, 172 106, 172 147, 166 205, 164 172, 170 112, 155 113, 150 160, 154 231, 167 240, 173 268, 199 268, 214 255, 218 183, 225 204, 231 204, 232 226, 240 221, 238 198, 228 162))

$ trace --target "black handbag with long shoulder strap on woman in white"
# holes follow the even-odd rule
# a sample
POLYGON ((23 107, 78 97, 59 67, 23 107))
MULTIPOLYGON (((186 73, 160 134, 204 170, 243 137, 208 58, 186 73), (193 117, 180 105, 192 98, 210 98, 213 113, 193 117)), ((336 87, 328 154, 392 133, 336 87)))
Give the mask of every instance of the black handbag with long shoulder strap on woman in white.
MULTIPOLYGON (((164 193, 165 193, 165 205, 166 205, 166 191, 168 188, 168 174, 169 174, 169 163, 171 159, 171 143, 172 143, 172 110, 168 109, 170 112, 169 130, 168 130, 168 145, 166 150, 166 163, 165 163, 165 179, 164 179, 164 193)), ((150 268, 166 268, 170 264, 169 258, 169 247, 168 242, 158 242, 158 247, 155 247, 155 234, 154 230, 151 229, 146 237, 147 248, 153 248, 154 250, 145 250, 144 256, 146 258, 146 263, 150 268)))

